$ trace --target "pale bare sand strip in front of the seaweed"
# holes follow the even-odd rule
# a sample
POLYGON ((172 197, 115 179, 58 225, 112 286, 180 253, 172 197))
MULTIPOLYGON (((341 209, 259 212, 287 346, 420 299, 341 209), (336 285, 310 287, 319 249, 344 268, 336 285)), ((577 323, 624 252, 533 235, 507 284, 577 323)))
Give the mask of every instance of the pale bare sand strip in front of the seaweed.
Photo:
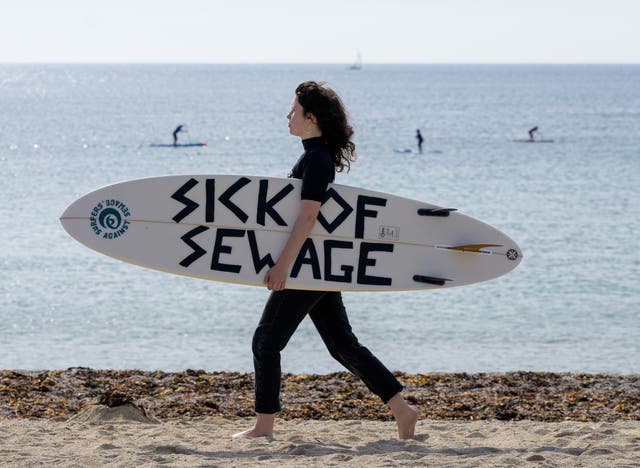
MULTIPOLYGON (((123 408, 123 407, 120 407, 123 408)), ((249 419, 0 422, 0 464, 46 466, 640 466, 640 422, 279 421, 272 440, 232 440, 249 419)), ((115 417, 115 419, 114 419, 115 417)))

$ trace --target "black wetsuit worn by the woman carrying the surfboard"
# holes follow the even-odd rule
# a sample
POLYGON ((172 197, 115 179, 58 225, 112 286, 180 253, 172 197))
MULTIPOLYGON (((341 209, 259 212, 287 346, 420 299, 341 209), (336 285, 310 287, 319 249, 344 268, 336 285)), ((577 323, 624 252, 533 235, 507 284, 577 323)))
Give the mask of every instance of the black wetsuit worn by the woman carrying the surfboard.
MULTIPOLYGON (((327 184, 335 177, 331 154, 322 138, 303 140, 302 144, 305 151, 289 177, 302 179, 303 200, 321 202, 327 184)), ((253 335, 257 413, 280 411, 280 352, 307 314, 331 356, 360 377, 384 403, 402 390, 400 382, 351 331, 340 292, 284 289, 271 293, 253 335)))

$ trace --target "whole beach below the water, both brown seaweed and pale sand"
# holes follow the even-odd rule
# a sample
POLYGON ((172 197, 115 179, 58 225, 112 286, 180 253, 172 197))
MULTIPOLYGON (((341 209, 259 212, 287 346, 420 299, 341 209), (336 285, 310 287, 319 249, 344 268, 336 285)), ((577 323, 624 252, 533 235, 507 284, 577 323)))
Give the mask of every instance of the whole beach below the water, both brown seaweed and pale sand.
POLYGON ((640 376, 396 375, 408 441, 347 373, 285 374, 274 438, 234 440, 251 374, 0 371, 0 465, 640 466, 640 376))

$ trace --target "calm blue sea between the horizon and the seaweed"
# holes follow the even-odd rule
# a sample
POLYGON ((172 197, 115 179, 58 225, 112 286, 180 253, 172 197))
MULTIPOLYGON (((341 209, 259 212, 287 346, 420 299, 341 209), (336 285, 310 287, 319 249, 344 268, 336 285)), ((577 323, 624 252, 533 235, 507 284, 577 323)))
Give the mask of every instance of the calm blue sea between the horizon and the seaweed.
MULTIPOLYGON (((355 129, 336 182, 457 208, 523 251, 484 283, 345 293, 388 368, 640 373, 640 65, 0 65, 0 368, 252 371, 266 289, 119 262, 59 216, 128 179, 285 177, 304 80, 355 129), (180 124, 208 146, 150 146, 180 124), (534 126, 553 141, 514 141, 534 126), (424 152, 395 152, 417 129, 424 152)), ((344 370, 309 319, 282 369, 344 370)))

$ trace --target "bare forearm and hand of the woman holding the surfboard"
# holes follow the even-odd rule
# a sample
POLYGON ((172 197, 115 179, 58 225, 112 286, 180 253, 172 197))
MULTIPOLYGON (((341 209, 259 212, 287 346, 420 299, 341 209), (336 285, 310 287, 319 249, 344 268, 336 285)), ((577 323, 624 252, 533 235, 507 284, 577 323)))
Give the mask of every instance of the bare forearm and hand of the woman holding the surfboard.
POLYGON ((293 225, 293 230, 289 234, 289 239, 276 264, 264 276, 263 282, 267 285, 267 288, 273 291, 280 291, 285 288, 289 266, 298 255, 298 252, 300 252, 302 244, 304 244, 313 229, 321 205, 319 201, 315 200, 302 200, 300 202, 300 212, 293 225))

